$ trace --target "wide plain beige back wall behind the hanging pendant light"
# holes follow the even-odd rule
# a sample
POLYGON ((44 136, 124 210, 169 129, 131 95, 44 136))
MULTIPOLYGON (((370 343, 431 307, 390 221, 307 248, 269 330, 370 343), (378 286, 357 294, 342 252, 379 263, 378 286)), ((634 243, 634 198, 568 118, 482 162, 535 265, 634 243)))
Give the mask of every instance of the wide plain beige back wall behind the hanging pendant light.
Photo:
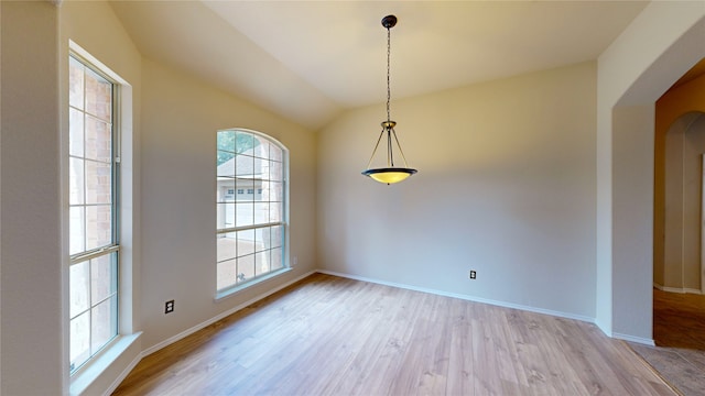
POLYGON ((360 175, 383 106, 345 113, 319 135, 321 266, 592 320, 595 84, 584 63, 392 100, 419 168, 392 186, 360 175))

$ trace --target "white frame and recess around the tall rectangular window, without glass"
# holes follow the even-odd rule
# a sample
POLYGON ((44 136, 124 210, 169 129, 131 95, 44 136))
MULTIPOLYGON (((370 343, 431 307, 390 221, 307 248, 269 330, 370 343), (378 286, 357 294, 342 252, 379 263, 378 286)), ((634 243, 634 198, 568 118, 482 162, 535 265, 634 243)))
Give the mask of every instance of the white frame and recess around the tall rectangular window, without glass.
MULTIPOLYGON (((62 82, 62 90, 65 92, 64 111, 66 119, 68 119, 68 59, 74 55, 82 58, 84 62, 93 66, 94 69, 99 70, 102 75, 107 76, 115 86, 115 113, 113 124, 117 131, 116 143, 118 146, 117 152, 120 153, 120 175, 118 186, 118 210, 117 210, 117 223, 120 226, 117 229, 117 240, 120 242, 120 263, 118 271, 118 336, 112 339, 111 342, 106 344, 102 350, 89 359, 82 367, 75 370, 69 374, 69 320, 68 320, 68 300, 69 300, 69 285, 68 285, 68 271, 69 271, 69 257, 68 257, 68 188, 64 193, 62 200, 65 202, 63 213, 63 243, 65 246, 65 275, 63 282, 63 306, 65 309, 64 315, 64 359, 65 359, 65 381, 68 384, 68 393, 72 395, 80 395, 90 392, 102 393, 104 386, 115 382, 115 378, 122 375, 124 366, 122 366, 122 360, 126 358, 129 361, 138 358, 139 353, 139 339, 141 332, 139 331, 139 305, 137 305, 133 295, 134 286, 137 283, 137 274, 139 274, 139 261, 134 254, 139 252, 139 240, 133 237, 133 230, 140 227, 139 205, 135 201, 137 193, 139 189, 139 163, 134 161, 134 144, 137 136, 133 136, 133 88, 132 86, 120 77, 117 73, 111 70, 104 63, 94 57, 90 53, 85 51, 80 45, 72 40, 68 40, 67 51, 63 52, 63 58, 66 59, 65 68, 62 66, 59 69, 64 70, 66 76, 65 82, 62 82), (122 360, 121 360, 122 359, 122 360)), ((63 123, 63 138, 62 138, 62 157, 68 158, 68 122, 63 123)), ((62 161, 62 179, 65 186, 68 186, 68 161, 62 161)))

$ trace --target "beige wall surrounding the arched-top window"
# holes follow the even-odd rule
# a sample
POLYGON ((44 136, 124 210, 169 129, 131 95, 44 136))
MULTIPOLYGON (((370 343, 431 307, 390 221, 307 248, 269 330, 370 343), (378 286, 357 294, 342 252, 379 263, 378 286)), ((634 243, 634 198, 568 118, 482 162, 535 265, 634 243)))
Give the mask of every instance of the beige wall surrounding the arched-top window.
POLYGON ((142 344, 182 331, 316 267, 316 135, 178 70, 142 63, 142 344), (216 131, 246 128, 289 148, 294 271, 220 301, 216 289, 216 131), (176 310, 163 315, 164 301, 176 310))

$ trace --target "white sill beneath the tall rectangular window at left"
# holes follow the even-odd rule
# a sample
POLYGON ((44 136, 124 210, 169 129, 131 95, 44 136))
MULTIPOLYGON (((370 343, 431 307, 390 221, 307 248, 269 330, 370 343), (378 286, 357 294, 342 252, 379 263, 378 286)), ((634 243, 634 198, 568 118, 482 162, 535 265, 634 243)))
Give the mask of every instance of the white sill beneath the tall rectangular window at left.
MULTIPOLYGON (((79 369, 70 378, 69 395, 83 395, 100 376, 110 369, 142 336, 142 332, 119 336, 111 345, 102 351, 93 361, 79 369)), ((130 359, 132 361, 132 359, 130 359)), ((119 373, 124 371, 118 369, 119 373)), ((117 377, 116 377, 117 378, 117 377)), ((105 380, 104 380, 105 382, 105 380)), ((112 381, 109 381, 112 383, 112 381)))

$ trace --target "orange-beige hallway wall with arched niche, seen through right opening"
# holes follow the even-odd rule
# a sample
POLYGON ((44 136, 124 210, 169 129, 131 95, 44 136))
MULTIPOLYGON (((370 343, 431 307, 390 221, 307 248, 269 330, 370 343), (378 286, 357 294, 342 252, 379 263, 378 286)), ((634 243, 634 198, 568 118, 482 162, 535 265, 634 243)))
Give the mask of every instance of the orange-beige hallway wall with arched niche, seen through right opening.
POLYGON ((701 292, 705 76, 669 90, 655 109, 654 284, 701 292))

